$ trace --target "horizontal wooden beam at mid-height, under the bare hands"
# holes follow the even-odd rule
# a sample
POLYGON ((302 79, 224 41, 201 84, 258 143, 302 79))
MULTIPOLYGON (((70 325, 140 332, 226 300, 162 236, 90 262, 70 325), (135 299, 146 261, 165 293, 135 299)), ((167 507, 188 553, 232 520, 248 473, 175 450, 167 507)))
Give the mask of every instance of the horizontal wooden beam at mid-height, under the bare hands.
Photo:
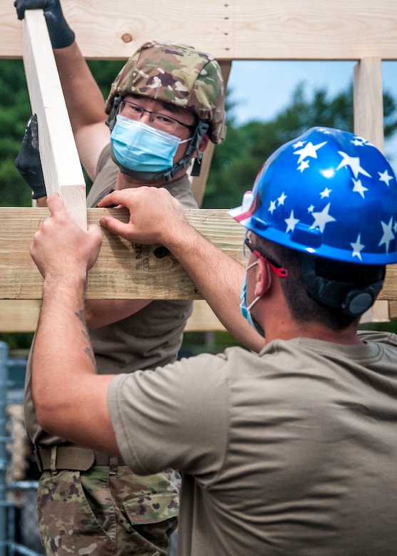
MULTIPOLYGON (((125 209, 88 209, 88 223, 105 212, 128 222, 125 209)), ((208 240, 243 262, 244 228, 227 210, 185 210, 208 240)), ((47 209, 0 207, 0 299, 41 299, 42 279, 29 255, 47 209)), ((89 274, 88 299, 201 299, 177 260, 160 245, 132 245, 103 230, 100 256, 89 274)))

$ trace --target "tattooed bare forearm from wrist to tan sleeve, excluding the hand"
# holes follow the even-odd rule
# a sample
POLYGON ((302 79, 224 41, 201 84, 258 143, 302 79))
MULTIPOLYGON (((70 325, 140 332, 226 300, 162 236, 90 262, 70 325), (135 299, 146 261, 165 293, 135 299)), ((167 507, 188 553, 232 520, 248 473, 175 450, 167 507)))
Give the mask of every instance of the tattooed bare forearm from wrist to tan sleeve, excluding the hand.
POLYGON ((32 354, 38 423, 68 441, 119 455, 107 411, 110 375, 96 374, 83 285, 46 284, 32 354))

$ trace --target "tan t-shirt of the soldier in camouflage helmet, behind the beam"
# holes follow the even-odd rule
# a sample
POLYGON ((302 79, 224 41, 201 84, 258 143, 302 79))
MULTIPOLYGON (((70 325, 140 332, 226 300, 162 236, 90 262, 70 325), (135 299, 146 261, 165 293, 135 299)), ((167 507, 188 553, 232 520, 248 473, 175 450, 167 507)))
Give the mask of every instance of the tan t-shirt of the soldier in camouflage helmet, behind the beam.
MULTIPOLYGON (((114 187, 117 175, 118 167, 110 158, 109 144, 100 155, 97 177, 87 197, 88 207, 95 207, 114 187)), ((187 175, 165 187, 184 208, 197 208, 187 175)), ((130 373, 175 361, 191 313, 190 300, 153 301, 126 319, 92 330, 90 338, 98 373, 130 373)), ((24 413, 26 431, 33 444, 49 446, 65 442, 63 438, 48 435, 37 423, 31 396, 30 357, 26 368, 24 413)))

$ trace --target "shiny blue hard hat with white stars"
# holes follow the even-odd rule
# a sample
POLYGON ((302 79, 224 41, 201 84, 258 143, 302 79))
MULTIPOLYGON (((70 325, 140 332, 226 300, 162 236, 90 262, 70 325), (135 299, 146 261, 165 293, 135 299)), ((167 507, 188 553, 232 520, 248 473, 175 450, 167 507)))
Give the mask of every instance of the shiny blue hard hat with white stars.
POLYGON ((319 257, 397 262, 397 183, 366 139, 311 128, 264 163, 252 192, 229 212, 255 234, 319 257))

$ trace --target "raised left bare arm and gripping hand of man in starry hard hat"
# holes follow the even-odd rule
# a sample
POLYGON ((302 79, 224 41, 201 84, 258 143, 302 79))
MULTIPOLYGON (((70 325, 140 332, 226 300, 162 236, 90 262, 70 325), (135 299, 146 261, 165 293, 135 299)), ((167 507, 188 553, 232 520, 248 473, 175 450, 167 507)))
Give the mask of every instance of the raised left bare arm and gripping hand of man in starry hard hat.
POLYGON ((44 278, 32 354, 32 393, 38 423, 68 441, 118 454, 107 406, 111 375, 96 374, 84 315, 88 271, 102 236, 81 230, 58 193, 33 236, 30 254, 44 278))

